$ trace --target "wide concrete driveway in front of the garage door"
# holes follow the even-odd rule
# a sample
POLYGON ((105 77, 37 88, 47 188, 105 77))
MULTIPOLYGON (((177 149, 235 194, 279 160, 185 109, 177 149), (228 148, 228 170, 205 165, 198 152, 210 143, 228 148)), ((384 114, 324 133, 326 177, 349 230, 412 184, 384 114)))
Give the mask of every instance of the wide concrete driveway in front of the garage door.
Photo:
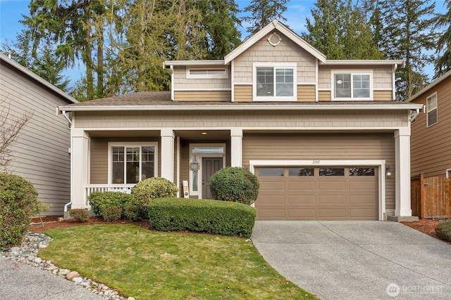
POLYGON ((451 244, 400 223, 257 221, 252 242, 321 299, 451 299, 451 244))

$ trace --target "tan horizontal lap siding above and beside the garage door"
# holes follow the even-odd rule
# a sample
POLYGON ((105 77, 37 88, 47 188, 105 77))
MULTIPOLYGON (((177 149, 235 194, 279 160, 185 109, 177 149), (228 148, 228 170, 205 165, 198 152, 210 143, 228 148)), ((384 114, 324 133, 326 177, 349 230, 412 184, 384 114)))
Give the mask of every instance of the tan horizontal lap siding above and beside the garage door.
POLYGON ((385 159, 393 172, 385 181, 386 208, 395 209, 393 133, 245 134, 243 166, 249 160, 385 159))

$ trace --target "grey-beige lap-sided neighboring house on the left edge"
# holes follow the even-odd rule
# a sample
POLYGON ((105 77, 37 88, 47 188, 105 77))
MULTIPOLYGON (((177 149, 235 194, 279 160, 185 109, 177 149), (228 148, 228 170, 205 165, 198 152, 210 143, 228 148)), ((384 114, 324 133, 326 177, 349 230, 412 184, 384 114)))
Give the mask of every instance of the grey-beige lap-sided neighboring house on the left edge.
POLYGON ((32 112, 13 144, 9 171, 31 181, 47 215, 61 216, 70 200, 70 129, 56 107, 77 103, 35 73, 0 54, 0 101, 11 115, 32 112))

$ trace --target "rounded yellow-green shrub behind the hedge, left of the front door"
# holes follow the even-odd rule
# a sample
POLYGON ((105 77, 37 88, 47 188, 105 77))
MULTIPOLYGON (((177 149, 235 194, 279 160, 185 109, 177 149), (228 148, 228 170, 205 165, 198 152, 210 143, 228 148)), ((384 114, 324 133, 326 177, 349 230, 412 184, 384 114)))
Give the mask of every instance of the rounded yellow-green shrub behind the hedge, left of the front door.
POLYGON ((144 216, 147 206, 155 198, 175 197, 177 186, 166 178, 153 177, 140 181, 132 188, 133 202, 141 209, 144 216))

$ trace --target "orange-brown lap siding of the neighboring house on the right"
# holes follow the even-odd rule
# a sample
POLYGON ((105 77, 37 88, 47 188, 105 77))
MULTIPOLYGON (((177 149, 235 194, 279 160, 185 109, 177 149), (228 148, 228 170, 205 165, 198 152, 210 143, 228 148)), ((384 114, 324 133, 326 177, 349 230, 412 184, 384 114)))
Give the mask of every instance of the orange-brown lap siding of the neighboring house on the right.
POLYGON ((445 176, 451 168, 451 78, 421 95, 414 103, 426 104, 426 98, 437 91, 438 123, 426 127, 426 114, 420 112, 412 124, 412 176, 445 176))

